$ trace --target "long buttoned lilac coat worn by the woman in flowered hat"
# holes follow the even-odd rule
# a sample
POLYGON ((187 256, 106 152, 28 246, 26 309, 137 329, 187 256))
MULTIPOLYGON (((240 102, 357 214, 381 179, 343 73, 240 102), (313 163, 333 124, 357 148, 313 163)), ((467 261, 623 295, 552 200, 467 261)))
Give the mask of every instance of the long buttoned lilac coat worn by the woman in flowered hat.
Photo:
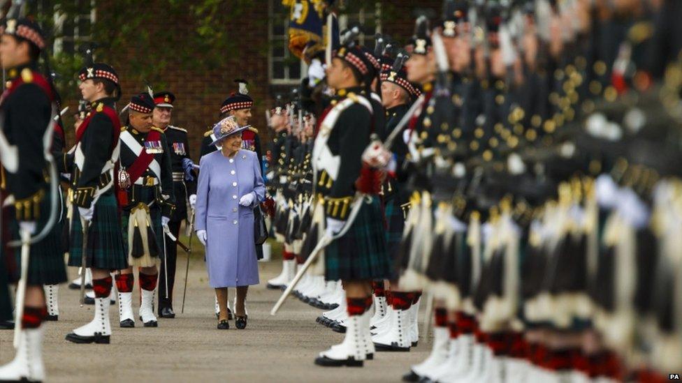
POLYGON ((242 149, 233 158, 214 151, 201 158, 195 230, 206 230, 211 287, 258 285, 253 209, 265 193, 253 151, 242 149), (241 206, 240 198, 249 193, 254 203, 241 206))

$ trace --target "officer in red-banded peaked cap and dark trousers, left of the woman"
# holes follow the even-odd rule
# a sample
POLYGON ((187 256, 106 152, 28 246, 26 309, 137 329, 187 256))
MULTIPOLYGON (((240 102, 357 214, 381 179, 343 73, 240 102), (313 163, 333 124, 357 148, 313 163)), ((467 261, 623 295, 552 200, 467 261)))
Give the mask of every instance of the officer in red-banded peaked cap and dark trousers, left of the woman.
MULTIPOLYGON (((170 167, 173 171, 173 194, 175 195, 175 211, 170 217, 168 228, 179 238, 182 220, 190 225, 189 217, 193 215, 196 204, 196 178, 184 172, 183 162, 189 155, 187 130, 170 125, 175 96, 168 91, 154 94, 153 121, 155 127, 164 130, 168 149, 170 150, 170 167)), ((161 279, 159 280, 159 308, 158 314, 162 318, 173 318, 173 285, 175 285, 175 262, 177 260, 177 243, 166 238, 166 261, 161 262, 161 279), (167 267, 167 269, 166 269, 167 267), (168 287, 166 287, 166 273, 168 273, 168 287)))

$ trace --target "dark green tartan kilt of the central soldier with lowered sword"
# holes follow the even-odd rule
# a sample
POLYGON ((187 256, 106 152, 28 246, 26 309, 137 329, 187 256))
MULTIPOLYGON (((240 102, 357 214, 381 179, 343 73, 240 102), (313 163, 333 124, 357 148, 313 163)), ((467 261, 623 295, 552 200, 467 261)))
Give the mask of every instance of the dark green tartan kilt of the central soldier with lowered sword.
POLYGON ((372 280, 391 276, 379 197, 363 202, 348 232, 325 249, 327 280, 372 280))

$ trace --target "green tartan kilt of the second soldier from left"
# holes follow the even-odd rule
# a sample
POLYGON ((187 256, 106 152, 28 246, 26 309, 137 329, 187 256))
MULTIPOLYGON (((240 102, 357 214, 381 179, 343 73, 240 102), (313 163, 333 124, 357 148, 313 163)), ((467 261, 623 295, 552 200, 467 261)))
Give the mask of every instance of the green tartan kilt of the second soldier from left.
MULTIPOLYGON (((74 206, 68 266, 81 266, 82 246, 83 232, 80 225, 80 213, 74 206)), ((113 190, 108 190, 99 197, 95 204, 94 216, 88 230, 86 266, 105 270, 127 269, 128 255, 123 246, 118 203, 113 190)))

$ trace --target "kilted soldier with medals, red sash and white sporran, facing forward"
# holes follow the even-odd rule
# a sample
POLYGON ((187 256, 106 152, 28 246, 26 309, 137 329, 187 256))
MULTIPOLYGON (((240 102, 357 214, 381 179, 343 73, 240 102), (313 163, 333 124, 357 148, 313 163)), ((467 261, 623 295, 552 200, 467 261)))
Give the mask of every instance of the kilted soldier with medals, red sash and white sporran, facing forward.
MULTIPOLYGON (((132 308, 133 266, 140 273, 140 318, 145 327, 157 327, 154 315, 154 290, 159 272, 157 262, 166 256, 164 229, 175 210, 170 151, 164 130, 152 126, 154 100, 147 93, 133 96, 129 104, 129 125, 121 132, 121 168, 125 179, 119 203, 124 251, 129 268, 119 271, 121 327, 135 326, 132 308)), ((161 278, 166 278, 164 273, 161 278)))

